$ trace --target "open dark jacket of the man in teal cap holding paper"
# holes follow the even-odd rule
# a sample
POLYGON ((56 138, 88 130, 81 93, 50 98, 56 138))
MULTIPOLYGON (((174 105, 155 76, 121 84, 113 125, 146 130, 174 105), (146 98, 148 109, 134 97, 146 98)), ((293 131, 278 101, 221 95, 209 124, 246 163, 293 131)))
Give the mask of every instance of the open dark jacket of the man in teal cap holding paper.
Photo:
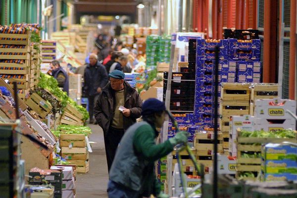
MULTIPOLYGON (((142 100, 137 91, 126 81, 124 81, 124 90, 124 107, 131 111, 129 117, 123 115, 124 130, 126 131, 141 116, 142 100)), ((104 133, 107 133, 113 120, 115 105, 115 91, 110 87, 110 83, 108 83, 102 90, 94 108, 95 118, 104 133)))

